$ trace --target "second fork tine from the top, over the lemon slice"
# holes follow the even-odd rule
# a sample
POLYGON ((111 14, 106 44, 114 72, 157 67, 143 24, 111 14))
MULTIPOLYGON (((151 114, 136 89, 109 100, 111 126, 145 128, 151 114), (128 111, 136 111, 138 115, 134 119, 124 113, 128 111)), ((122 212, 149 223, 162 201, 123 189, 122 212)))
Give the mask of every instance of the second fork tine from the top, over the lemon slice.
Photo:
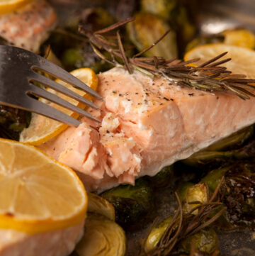
POLYGON ((84 103, 88 106, 91 106, 92 108, 99 109, 98 106, 96 106, 96 104, 94 104, 93 102, 85 99, 84 97, 80 96, 74 91, 67 89, 67 87, 64 87, 62 84, 58 84, 52 79, 43 76, 42 74, 38 74, 35 72, 33 77, 29 77, 29 80, 34 82, 39 82, 40 84, 43 84, 46 87, 50 87, 52 89, 55 89, 56 91, 60 91, 62 94, 70 96, 71 98, 76 99, 77 101, 80 101, 81 103, 84 103))

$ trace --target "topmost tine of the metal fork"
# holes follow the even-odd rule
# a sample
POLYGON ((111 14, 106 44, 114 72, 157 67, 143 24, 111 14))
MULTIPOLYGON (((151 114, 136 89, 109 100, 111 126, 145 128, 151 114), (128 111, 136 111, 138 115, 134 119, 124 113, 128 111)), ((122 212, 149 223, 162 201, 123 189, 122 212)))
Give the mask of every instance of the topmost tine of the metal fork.
POLYGON ((64 82, 72 84, 74 87, 79 87, 80 89, 83 89, 88 94, 91 94, 92 96, 95 96, 98 99, 102 99, 102 97, 96 91, 94 91, 86 84, 81 82, 81 80, 79 80, 77 77, 74 77, 72 74, 62 69, 62 67, 55 65, 54 63, 50 62, 49 60, 46 60, 45 58, 39 55, 38 59, 40 62, 40 67, 33 65, 33 68, 46 72, 52 75, 52 77, 57 77, 58 79, 61 79, 64 82))

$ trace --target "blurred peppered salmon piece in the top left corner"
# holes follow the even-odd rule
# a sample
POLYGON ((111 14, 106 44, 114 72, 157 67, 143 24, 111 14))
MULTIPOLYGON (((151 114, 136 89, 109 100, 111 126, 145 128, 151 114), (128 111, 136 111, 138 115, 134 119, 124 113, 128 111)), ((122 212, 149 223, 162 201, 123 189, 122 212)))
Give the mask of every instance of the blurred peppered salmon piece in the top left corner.
POLYGON ((26 6, 0 15, 0 36, 20 48, 38 52, 57 24, 55 10, 45 0, 35 0, 26 6))

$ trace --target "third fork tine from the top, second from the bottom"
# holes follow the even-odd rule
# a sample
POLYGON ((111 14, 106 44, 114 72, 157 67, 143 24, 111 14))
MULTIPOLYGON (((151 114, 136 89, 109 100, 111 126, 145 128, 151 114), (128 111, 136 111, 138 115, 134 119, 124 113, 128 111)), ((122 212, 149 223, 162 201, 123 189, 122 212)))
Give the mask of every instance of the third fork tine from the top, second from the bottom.
MULTIPOLYGON (((55 104, 63 106, 64 108, 68 108, 76 113, 79 113, 82 116, 86 116, 87 118, 100 123, 100 121, 98 121, 98 119, 94 118, 94 116, 92 116, 90 113, 82 110, 81 108, 78 108, 77 106, 74 106, 73 104, 70 104, 68 101, 64 101, 64 99, 61 99, 60 97, 56 96, 55 94, 51 94, 49 91, 45 91, 44 89, 41 89, 40 87, 37 87, 33 84, 30 84, 30 87, 31 87, 31 89, 26 91, 28 96, 32 94, 34 96, 42 97, 44 99, 47 99, 48 101, 52 101, 55 104)), ((40 102, 40 101, 38 101, 38 102, 40 102)))

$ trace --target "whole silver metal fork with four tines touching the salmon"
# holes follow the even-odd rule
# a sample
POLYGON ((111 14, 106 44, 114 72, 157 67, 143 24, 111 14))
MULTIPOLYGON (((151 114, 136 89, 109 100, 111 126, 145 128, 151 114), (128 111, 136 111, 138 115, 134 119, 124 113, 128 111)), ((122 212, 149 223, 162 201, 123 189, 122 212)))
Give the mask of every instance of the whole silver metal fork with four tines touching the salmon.
POLYGON ((98 108, 93 102, 84 99, 84 97, 52 79, 39 74, 38 71, 50 74, 52 77, 59 78, 98 99, 102 99, 96 91, 40 55, 13 46, 0 45, 0 104, 25 109, 62 123, 79 126, 80 121, 35 98, 41 97, 79 113, 82 116, 98 121, 90 113, 33 84, 33 82, 38 82, 45 87, 60 91, 62 94, 70 96, 92 108, 98 108))

